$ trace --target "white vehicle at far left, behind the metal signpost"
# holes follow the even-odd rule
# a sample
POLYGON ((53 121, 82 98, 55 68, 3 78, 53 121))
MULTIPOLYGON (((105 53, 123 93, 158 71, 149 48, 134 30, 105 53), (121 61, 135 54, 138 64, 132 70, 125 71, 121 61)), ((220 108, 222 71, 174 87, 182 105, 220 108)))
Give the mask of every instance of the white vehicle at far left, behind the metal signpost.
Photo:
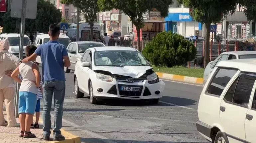
MULTIPOLYGON (((20 34, 16 34, 16 33, 2 33, 0 35, 0 40, 3 39, 8 39, 10 42, 10 48, 8 50, 9 53, 15 54, 16 56, 19 56, 19 48, 20 48, 20 34)), ((32 42, 29 39, 29 37, 27 35, 24 35, 24 40, 23 40, 23 57, 26 57, 25 55, 25 48, 27 45, 31 45, 32 42)))

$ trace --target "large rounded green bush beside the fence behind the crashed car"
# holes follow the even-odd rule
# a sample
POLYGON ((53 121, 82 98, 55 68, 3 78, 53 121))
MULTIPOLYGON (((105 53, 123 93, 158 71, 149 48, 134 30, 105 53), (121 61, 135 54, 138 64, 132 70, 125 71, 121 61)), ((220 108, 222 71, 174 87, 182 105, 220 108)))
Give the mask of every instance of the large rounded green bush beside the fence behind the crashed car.
POLYGON ((171 31, 159 33, 143 49, 142 54, 156 66, 177 66, 194 59, 196 49, 192 42, 171 31))

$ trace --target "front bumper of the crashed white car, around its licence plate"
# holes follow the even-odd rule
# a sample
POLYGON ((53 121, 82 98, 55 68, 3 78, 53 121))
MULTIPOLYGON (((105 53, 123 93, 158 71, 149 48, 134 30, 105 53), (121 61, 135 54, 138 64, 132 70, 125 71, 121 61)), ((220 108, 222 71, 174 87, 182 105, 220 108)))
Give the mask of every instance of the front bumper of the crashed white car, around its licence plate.
POLYGON ((92 85, 93 95, 96 98, 120 98, 141 100, 161 98, 165 83, 161 80, 158 83, 149 84, 147 80, 144 80, 143 82, 128 83, 123 81, 116 81, 116 79, 113 79, 112 82, 104 82, 95 79, 95 81, 92 81, 92 85), (140 87, 141 91, 121 91, 121 86, 140 87), (103 89, 103 91, 99 92, 98 89, 103 89), (159 93, 155 93, 156 91, 159 93))

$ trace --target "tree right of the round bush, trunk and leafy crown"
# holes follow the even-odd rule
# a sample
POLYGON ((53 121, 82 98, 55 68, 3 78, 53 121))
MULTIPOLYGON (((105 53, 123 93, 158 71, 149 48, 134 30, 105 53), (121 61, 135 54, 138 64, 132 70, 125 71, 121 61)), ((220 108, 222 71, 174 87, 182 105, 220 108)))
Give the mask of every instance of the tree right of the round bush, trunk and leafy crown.
POLYGON ((186 7, 192 8, 190 13, 194 20, 205 23, 206 46, 204 48, 204 67, 209 62, 210 25, 217 23, 236 8, 237 0, 178 0, 186 7))

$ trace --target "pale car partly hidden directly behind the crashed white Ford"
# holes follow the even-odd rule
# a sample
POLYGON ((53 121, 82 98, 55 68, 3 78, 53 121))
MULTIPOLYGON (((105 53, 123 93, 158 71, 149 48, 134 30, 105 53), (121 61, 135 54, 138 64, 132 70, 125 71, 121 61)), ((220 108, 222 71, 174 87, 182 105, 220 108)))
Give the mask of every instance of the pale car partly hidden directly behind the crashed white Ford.
POLYGON ((65 73, 69 73, 70 70, 74 70, 77 60, 81 58, 87 49, 93 47, 105 47, 105 45, 101 42, 91 41, 79 41, 70 43, 67 46, 67 54, 70 60, 70 67, 64 67, 65 73))

